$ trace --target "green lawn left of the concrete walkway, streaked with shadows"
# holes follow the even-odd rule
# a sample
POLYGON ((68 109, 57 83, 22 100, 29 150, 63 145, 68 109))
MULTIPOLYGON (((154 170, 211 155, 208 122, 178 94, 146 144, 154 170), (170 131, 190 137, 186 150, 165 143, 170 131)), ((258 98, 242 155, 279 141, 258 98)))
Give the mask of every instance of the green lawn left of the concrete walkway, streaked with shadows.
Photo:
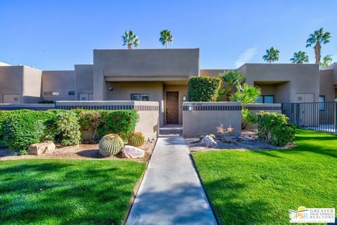
POLYGON ((1 224, 121 224, 145 163, 0 161, 1 224))

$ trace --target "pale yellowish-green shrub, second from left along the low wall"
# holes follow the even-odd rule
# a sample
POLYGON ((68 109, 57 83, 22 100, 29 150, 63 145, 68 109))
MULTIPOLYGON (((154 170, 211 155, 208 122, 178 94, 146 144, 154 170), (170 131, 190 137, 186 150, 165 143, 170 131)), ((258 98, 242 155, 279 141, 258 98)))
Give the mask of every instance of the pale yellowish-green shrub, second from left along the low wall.
POLYGON ((72 111, 60 111, 56 113, 55 139, 62 146, 76 146, 81 141, 79 131, 79 119, 72 111))

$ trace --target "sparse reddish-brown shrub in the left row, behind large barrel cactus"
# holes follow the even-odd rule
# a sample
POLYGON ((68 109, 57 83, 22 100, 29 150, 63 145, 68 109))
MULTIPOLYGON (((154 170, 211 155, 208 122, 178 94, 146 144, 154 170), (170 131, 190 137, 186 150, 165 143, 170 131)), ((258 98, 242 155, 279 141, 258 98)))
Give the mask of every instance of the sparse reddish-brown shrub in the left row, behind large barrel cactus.
POLYGON ((91 130, 91 143, 98 141, 98 129, 103 123, 102 116, 98 110, 74 110, 79 116, 79 127, 81 130, 91 130))

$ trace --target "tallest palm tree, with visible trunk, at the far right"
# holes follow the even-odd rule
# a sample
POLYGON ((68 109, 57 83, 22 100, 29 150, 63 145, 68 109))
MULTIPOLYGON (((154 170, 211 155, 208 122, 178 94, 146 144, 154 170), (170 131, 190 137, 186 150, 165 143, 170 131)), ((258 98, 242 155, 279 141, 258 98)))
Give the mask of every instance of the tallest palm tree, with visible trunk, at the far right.
POLYGON ((330 32, 324 32, 323 27, 319 28, 319 30, 315 30, 313 34, 310 34, 307 40, 307 45, 305 47, 308 48, 315 44, 314 49, 317 64, 321 60, 321 44, 329 43, 330 38, 331 38, 330 32))

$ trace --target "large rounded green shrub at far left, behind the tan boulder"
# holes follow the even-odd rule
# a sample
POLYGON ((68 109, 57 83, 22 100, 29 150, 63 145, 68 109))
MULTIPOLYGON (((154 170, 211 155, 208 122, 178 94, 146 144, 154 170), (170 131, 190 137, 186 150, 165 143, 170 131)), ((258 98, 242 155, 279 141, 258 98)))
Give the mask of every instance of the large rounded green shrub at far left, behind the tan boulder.
POLYGON ((29 145, 43 141, 46 126, 40 115, 40 112, 10 115, 2 127, 6 146, 20 154, 26 154, 29 145))

